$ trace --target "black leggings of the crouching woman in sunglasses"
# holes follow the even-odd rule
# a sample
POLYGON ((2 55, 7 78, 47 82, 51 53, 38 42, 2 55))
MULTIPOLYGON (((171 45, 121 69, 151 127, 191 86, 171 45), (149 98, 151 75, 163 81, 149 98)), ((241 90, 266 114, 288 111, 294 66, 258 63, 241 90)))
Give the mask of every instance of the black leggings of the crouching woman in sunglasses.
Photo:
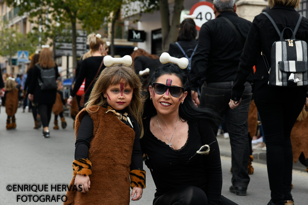
MULTIPOLYGON (((157 196, 153 205, 207 205, 208 198, 204 191, 198 187, 181 187, 157 196)), ((237 205, 233 201, 221 196, 221 205, 237 205)))

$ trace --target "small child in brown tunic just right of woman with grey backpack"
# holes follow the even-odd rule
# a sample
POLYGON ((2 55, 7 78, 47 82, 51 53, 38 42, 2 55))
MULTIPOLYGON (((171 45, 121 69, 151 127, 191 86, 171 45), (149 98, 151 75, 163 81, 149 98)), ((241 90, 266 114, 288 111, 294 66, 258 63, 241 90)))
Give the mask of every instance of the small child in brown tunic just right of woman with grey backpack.
POLYGON ((66 126, 67 126, 65 118, 63 116, 63 106, 65 105, 65 100, 63 98, 63 83, 62 83, 62 81, 58 80, 57 85, 58 85, 58 90, 57 90, 56 101, 55 101, 55 104, 52 107, 52 112, 55 114, 55 120, 54 120, 55 126, 53 127, 54 130, 59 130, 58 115, 60 115, 60 118, 61 118, 62 129, 65 129, 66 126))

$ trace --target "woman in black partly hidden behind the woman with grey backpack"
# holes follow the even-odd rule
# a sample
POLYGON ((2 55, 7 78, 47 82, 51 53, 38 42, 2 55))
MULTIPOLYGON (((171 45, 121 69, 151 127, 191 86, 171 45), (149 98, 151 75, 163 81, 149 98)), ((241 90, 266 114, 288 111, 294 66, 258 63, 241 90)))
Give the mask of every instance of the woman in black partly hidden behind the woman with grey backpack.
MULTIPOLYGON (((26 70, 26 82, 25 85, 23 87, 23 93, 28 97, 28 89, 30 86, 30 82, 32 81, 32 77, 33 77, 33 68, 34 65, 39 62, 39 54, 34 54, 31 58, 30 61, 30 65, 28 67, 28 69, 26 70)), ((41 121, 41 115, 38 114, 38 107, 37 104, 34 102, 30 102, 29 103, 29 107, 31 105, 31 110, 32 110, 32 115, 33 115, 33 119, 34 119, 34 127, 33 129, 39 129, 40 127, 42 127, 42 121, 41 121)))

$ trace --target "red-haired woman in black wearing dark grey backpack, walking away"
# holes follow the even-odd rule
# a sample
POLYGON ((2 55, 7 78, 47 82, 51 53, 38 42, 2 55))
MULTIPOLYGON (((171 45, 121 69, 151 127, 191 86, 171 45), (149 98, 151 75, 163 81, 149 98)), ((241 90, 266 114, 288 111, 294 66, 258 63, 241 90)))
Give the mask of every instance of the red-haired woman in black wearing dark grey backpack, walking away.
POLYGON ((52 52, 49 50, 49 46, 43 46, 39 55, 39 62, 33 68, 33 76, 28 89, 29 100, 38 104, 43 124, 43 138, 50 137, 48 126, 51 119, 52 106, 56 100, 56 79, 58 77, 58 66, 52 60, 52 52))

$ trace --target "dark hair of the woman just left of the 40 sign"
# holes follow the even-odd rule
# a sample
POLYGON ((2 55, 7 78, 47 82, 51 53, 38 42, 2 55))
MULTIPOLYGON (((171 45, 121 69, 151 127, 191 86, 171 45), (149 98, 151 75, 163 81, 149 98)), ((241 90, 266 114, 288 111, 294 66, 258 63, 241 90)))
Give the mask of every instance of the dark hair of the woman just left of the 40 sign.
POLYGON ((191 18, 186 18, 182 21, 179 31, 179 36, 176 41, 191 41, 196 39, 197 29, 196 24, 191 18))

